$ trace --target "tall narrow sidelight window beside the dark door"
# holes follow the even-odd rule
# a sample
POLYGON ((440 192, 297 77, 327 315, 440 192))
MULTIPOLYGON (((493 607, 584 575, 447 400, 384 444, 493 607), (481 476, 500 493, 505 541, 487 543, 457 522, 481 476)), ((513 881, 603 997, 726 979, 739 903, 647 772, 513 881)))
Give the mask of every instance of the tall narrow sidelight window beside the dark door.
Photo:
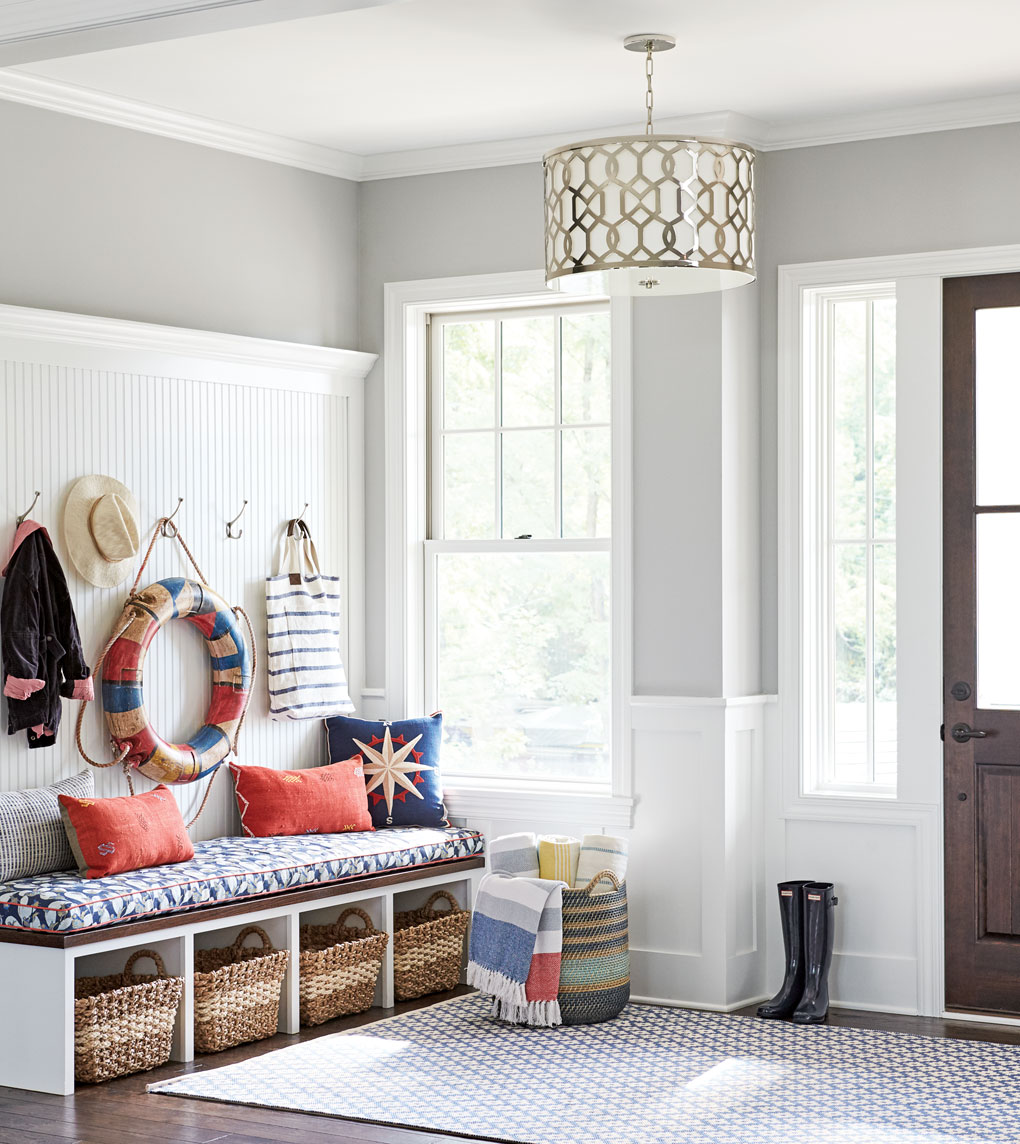
POLYGON ((886 284, 804 297, 806 793, 897 791, 895 305, 886 284))

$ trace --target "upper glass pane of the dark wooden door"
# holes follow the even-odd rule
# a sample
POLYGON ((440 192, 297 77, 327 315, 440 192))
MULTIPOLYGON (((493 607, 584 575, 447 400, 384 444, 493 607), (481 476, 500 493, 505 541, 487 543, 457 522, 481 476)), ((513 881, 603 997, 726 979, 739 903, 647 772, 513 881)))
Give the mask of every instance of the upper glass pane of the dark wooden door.
POLYGON ((1020 505, 1020 309, 978 310, 974 325, 978 503, 1020 505))

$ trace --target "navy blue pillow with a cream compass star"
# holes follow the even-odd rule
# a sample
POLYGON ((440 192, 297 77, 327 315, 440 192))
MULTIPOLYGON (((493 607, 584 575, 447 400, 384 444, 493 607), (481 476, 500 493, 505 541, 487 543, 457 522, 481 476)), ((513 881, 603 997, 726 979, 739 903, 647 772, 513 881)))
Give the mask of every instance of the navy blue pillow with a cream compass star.
POLYGON ((376 828, 449 826, 443 805, 439 745, 443 715, 384 722, 334 715, 326 720, 329 762, 365 760, 368 812, 376 828))

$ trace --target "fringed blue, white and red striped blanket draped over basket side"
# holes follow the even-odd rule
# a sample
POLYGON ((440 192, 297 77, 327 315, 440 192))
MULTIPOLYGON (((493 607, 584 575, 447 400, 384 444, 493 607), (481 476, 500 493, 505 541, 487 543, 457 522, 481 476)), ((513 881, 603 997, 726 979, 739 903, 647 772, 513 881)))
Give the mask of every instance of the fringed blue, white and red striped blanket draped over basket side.
POLYGON ((563 883, 487 874, 471 919, 468 984, 492 998, 494 1017, 559 1025, 563 883))

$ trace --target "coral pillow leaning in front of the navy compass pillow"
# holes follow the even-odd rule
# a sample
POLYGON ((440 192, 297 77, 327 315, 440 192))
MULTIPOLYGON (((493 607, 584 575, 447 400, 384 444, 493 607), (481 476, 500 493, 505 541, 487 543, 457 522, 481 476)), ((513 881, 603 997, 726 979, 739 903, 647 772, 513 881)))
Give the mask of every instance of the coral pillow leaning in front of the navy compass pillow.
POLYGON ((305 771, 231 763, 230 772, 241 828, 250 839, 375 829, 360 756, 305 771))

